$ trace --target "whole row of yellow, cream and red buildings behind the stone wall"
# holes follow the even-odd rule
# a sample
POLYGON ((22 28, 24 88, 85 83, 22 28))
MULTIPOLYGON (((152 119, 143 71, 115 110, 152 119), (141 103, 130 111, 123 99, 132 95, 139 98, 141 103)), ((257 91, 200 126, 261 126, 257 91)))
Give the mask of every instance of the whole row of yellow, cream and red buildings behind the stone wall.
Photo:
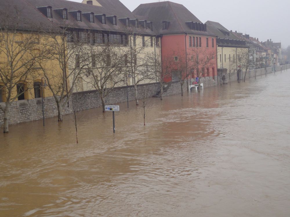
POLYGON ((138 104, 138 84, 216 80, 219 71, 283 63, 281 43, 202 23, 170 1, 141 4, 133 12, 119 0, 0 2, 1 38, 10 35, 0 41, 4 113, 8 102, 44 96, 53 96, 62 111, 75 91, 97 90, 103 102, 110 90, 124 85, 134 85, 138 104))

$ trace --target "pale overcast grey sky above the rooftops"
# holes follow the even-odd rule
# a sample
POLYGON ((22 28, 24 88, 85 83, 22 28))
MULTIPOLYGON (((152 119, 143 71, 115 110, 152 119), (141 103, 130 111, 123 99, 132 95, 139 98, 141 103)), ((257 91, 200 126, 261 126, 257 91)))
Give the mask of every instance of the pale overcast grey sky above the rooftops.
MULTIPOLYGON (((121 0, 121 2, 133 11, 139 4, 156 1, 121 0)), ((274 42, 281 42, 283 48, 290 45, 290 0, 173 0, 173 2, 183 4, 203 23, 208 20, 219 22, 228 30, 250 34, 259 38, 259 41, 271 38, 274 42)))

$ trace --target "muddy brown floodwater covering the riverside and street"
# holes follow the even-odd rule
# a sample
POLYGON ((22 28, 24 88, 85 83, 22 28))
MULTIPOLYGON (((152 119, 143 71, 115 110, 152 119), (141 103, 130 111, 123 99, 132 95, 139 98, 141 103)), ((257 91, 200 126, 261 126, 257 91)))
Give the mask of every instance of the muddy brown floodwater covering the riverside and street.
POLYGON ((0 134, 0 216, 290 216, 290 71, 0 134))

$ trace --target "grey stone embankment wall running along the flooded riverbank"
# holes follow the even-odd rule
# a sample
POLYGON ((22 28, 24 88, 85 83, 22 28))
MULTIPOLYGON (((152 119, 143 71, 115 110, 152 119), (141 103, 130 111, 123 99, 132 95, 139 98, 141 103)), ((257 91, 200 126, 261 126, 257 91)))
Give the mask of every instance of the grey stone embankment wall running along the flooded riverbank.
MULTIPOLYGON (((277 66, 276 71, 279 72, 281 70, 286 69, 286 65, 277 66)), ((287 65, 289 69, 290 65, 287 65)), ((271 73, 275 69, 273 67, 266 68, 266 73, 271 73)), ((290 70, 290 69, 289 69, 290 70)), ((250 76, 254 77, 255 70, 250 71, 250 76)), ((249 72, 247 72, 249 73, 249 72)), ((265 69, 257 69, 256 76, 261 76, 265 74, 265 69)), ((242 79, 242 78, 241 78, 242 79)), ((249 74, 247 74, 246 79, 249 79, 249 74)), ((237 73, 231 73, 231 81, 237 80, 237 73)), ((187 91, 187 83, 190 85, 194 79, 188 82, 186 80, 183 84, 184 93, 187 91)), ((204 84, 204 87, 211 87, 218 85, 221 79, 218 76, 215 76, 214 79, 210 77, 201 78, 201 82, 204 84)), ((227 73, 227 82, 229 82, 229 73, 227 73)), ((139 97, 143 94, 144 90, 147 91, 149 97, 157 94, 160 91, 159 83, 151 83, 151 84, 142 84, 138 85, 138 95, 139 97)), ((169 89, 163 94, 163 96, 180 94, 181 93, 181 85, 180 82, 174 82, 171 84, 169 89)), ((134 86, 128 86, 128 99, 135 100, 135 90, 134 86)), ((120 102, 127 101, 127 88, 126 87, 117 87, 115 88, 107 97, 106 104, 117 104, 120 102)), ((93 91, 83 91, 78 93, 73 93, 70 99, 70 103, 73 103, 77 111, 86 110, 89 108, 96 108, 102 106, 101 98, 99 93, 96 90, 93 91)), ((1 103, 1 105, 5 105, 5 103, 1 103)), ((32 99, 32 100, 20 100, 12 102, 10 105, 10 121, 9 124, 17 124, 21 122, 29 122, 34 120, 42 119, 42 104, 41 98, 32 99)), ((71 106, 68 108, 64 107, 64 114, 72 113, 71 106)), ((55 117, 57 116, 57 105, 55 103, 55 99, 53 97, 47 97, 44 100, 44 114, 45 118, 55 117)), ((3 125, 4 114, 0 110, 0 126, 3 125)))

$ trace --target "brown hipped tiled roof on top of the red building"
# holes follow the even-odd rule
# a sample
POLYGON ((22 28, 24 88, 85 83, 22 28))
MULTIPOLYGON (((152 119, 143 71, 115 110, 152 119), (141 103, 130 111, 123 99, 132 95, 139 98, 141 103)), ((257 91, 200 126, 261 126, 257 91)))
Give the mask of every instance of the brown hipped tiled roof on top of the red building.
POLYGON ((185 22, 202 23, 183 5, 171 1, 140 4, 134 11, 136 16, 148 17, 160 34, 192 33, 212 35, 210 32, 191 30, 185 22), (162 21, 169 22, 168 29, 162 30, 162 21))

